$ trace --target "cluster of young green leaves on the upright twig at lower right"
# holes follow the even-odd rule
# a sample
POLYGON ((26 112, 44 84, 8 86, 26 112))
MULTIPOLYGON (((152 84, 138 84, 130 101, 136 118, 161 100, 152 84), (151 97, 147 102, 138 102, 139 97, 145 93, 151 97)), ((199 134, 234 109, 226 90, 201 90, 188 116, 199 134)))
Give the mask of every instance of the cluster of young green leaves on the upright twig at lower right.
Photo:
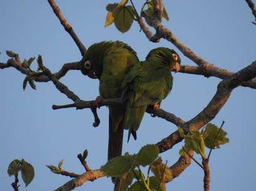
MULTIPOLYGON (((195 153, 200 154, 203 159, 206 158, 205 146, 209 149, 220 148, 220 145, 229 142, 226 137, 226 131, 218 128, 214 124, 208 123, 202 131, 189 131, 185 134, 183 129, 178 127, 180 136, 185 138, 185 150, 193 150, 195 153)), ((187 156, 185 150, 180 150, 180 155, 187 156)))

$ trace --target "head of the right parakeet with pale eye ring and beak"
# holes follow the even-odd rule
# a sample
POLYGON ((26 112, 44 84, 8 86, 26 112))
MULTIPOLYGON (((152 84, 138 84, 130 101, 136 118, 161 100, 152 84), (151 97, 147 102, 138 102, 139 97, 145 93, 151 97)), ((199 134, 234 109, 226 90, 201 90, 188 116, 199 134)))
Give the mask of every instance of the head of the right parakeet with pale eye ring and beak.
POLYGON ((160 59, 162 63, 165 63, 169 66, 170 70, 175 70, 176 72, 180 70, 180 56, 173 49, 164 47, 154 48, 148 53, 146 60, 150 57, 156 57, 160 59))

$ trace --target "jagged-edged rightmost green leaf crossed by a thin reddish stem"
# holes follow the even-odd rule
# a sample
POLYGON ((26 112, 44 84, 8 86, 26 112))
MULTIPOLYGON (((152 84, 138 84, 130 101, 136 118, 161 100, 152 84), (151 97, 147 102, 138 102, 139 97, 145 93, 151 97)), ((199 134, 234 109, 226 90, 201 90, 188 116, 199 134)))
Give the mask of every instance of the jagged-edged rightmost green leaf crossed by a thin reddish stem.
MULTIPOLYGON (((214 139, 216 138, 218 131, 219 131, 219 128, 217 126, 215 126, 214 124, 208 123, 206 125, 206 128, 202 133, 206 134, 206 137, 204 138, 204 143, 207 148, 211 148, 212 143, 213 143, 214 139)), ((220 148, 219 145, 223 145, 230 141, 228 138, 226 138, 226 134, 228 134, 228 133, 226 133, 226 131, 224 131, 223 129, 220 129, 218 137, 216 138, 216 140, 214 142, 214 146, 213 146, 214 149, 220 148)))

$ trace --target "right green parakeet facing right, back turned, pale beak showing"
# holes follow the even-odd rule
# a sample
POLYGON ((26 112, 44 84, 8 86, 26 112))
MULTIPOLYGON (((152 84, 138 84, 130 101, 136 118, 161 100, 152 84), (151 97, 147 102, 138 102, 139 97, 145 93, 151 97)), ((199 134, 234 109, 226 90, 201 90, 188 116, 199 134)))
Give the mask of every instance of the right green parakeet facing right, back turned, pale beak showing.
POLYGON ((169 48, 151 50, 146 60, 134 64, 122 82, 122 97, 127 99, 124 117, 124 128, 129 129, 128 141, 131 134, 137 138, 146 108, 153 105, 158 108, 161 101, 170 94, 173 85, 172 70, 180 70, 178 53, 169 48))

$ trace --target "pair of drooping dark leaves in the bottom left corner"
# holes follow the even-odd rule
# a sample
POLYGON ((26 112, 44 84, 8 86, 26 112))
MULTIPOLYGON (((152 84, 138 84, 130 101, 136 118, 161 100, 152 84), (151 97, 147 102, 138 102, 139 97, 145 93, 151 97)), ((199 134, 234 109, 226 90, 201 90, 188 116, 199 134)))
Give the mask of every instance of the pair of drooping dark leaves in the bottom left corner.
POLYGON ((35 177, 35 170, 33 166, 24 159, 15 159, 11 161, 8 166, 7 172, 10 177, 12 175, 18 177, 18 172, 21 172, 21 177, 26 187, 30 184, 30 182, 32 182, 33 178, 35 177))

